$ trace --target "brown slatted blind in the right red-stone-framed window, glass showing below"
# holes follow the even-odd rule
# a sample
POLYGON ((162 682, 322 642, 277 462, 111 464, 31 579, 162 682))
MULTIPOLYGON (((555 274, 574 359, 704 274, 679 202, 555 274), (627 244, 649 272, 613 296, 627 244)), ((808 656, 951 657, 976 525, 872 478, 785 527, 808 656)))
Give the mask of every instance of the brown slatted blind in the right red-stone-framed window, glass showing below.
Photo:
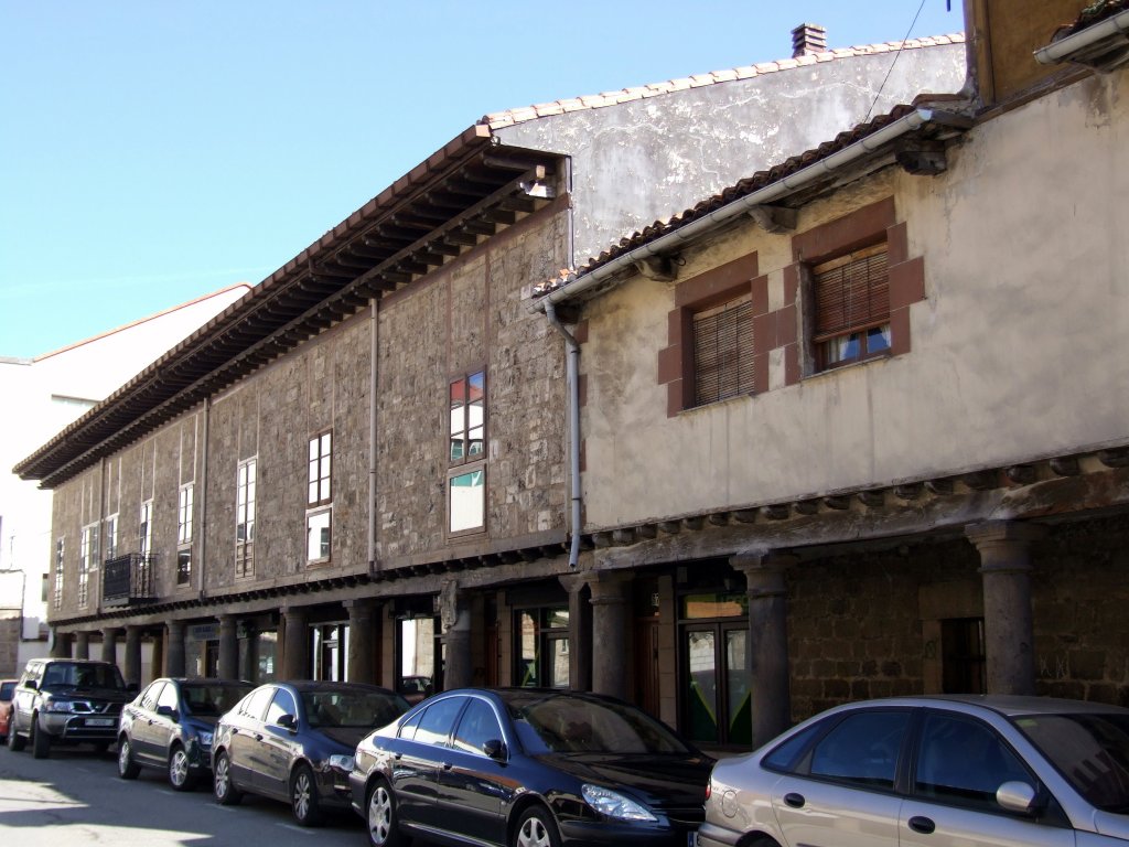
POLYGON ((823 262, 812 269, 812 274, 816 341, 890 320, 885 244, 823 262))

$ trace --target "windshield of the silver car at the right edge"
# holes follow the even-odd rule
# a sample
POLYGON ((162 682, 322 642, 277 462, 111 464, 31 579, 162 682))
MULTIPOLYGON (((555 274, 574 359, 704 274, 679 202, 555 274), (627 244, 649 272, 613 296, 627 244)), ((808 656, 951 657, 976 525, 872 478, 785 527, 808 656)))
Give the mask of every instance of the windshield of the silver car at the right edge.
POLYGON ((1129 812, 1129 717, 1024 715, 1015 724, 1091 804, 1129 812))

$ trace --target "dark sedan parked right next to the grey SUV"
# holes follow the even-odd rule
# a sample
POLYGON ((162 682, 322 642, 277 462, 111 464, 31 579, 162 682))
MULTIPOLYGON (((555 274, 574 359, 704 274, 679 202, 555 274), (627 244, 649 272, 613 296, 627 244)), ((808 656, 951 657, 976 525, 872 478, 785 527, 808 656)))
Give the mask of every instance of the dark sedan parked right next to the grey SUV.
POLYGON ((117 775, 135 779, 142 766, 163 768, 173 788, 192 791, 211 767, 216 722, 252 688, 231 680, 154 680, 122 708, 117 775))

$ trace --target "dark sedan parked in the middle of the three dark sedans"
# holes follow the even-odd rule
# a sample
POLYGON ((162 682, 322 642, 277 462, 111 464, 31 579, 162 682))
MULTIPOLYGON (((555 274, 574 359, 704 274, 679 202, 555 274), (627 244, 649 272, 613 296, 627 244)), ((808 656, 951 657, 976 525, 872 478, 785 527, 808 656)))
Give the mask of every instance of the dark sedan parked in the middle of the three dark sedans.
POLYGON ((357 742, 408 709, 385 688, 347 682, 273 682, 244 697, 216 725, 212 786, 224 805, 244 792, 290 803, 305 827, 348 807, 357 742))

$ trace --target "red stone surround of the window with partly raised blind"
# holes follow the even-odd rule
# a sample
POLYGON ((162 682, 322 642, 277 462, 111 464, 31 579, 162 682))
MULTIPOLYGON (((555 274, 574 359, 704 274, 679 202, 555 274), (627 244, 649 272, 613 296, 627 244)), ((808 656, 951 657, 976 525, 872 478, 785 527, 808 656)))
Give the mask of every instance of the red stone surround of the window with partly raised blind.
MULTIPOLYGON (((795 308, 797 296, 803 298, 804 333, 803 339, 779 344, 785 348, 787 384, 795 384, 802 375, 820 373, 831 366, 820 360, 816 350, 820 316, 816 314, 813 269, 826 267, 832 260, 851 254, 856 257, 865 256, 866 248, 878 245, 885 245, 889 286, 890 348, 882 355, 909 352, 909 307, 925 299, 925 263, 920 256, 910 259, 905 222, 898 222, 894 211, 894 199, 886 198, 793 237, 795 263, 785 268, 785 308, 795 308)), ((875 315, 876 313, 872 313, 864 323, 881 323, 875 315)), ((830 326, 830 323, 826 325, 830 326)), ((829 330, 825 334, 833 332, 829 330)), ((850 360, 863 358, 866 358, 865 352, 858 359, 850 360)))

